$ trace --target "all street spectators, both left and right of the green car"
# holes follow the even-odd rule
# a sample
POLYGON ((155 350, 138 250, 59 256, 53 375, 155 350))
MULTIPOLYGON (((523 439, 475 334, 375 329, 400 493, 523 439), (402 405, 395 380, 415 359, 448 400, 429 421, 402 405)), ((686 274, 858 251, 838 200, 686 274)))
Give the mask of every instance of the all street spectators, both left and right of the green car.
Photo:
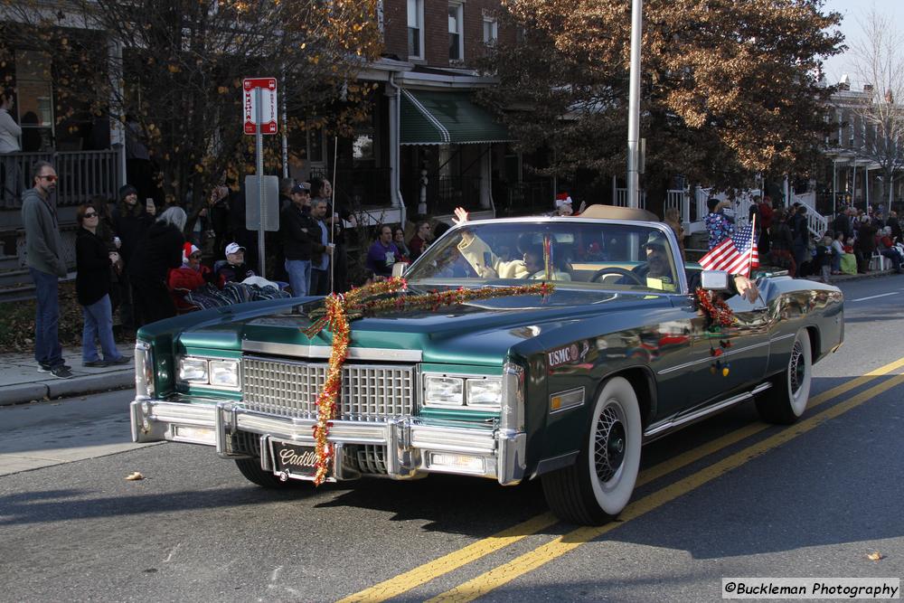
MULTIPOLYGON (((39 372, 71 377, 58 338, 60 278, 67 275, 52 194, 57 174, 46 162, 33 165, 32 186, 22 195, 27 266, 37 297, 35 360, 39 372)), ((376 239, 359 245, 363 267, 350 265, 348 245, 357 237, 351 212, 334 206, 331 183, 285 181, 280 194, 280 229, 266 245, 270 270, 255 273, 255 234, 244 228, 244 195, 228 185, 215 186, 207 203, 191 216, 172 196, 158 213, 152 199, 138 200, 137 189, 123 186, 116 203, 96 198, 76 212, 76 293, 82 308, 82 364, 128 363, 113 337, 114 316, 126 329, 199 308, 273 297, 344 293, 388 278, 399 262, 417 259, 448 226, 419 221, 407 233, 378 225, 376 239), (110 205, 113 205, 111 208, 110 205), (190 219, 191 218, 191 219, 190 219), (366 250, 366 251, 365 251, 366 250)), ((712 249, 734 232, 727 202, 709 200, 704 218, 712 249)), ((579 212, 584 209, 583 204, 579 212)), ((570 198, 557 215, 573 213, 570 198)), ((796 278, 828 281, 831 275, 865 273, 874 259, 887 259, 901 272, 904 243, 895 212, 845 207, 823 236, 811 236, 807 208, 773 206, 766 196, 749 209, 756 223, 762 264, 786 269, 796 278)), ((665 221, 684 240, 680 216, 665 221)), ((270 234, 270 233, 268 233, 270 234)), ((683 250, 682 250, 683 253, 683 250)))

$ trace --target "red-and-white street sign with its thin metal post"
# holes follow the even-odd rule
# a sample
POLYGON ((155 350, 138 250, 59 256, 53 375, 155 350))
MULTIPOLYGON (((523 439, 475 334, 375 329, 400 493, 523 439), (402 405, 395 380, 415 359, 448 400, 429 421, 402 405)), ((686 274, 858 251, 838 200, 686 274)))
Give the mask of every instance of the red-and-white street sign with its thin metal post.
MULTIPOLYGON (((260 276, 266 278, 264 272, 267 254, 264 251, 264 229, 267 226, 267 213, 264 203, 267 196, 264 194, 264 134, 276 134, 277 127, 277 79, 276 78, 246 78, 241 85, 244 93, 242 128, 245 134, 253 134, 255 137, 255 152, 257 155, 258 174, 258 215, 262 218, 262 224, 258 228, 258 266, 260 276)), ((246 189, 247 193, 247 189, 246 189)), ((246 203, 247 207, 247 203, 246 203)))

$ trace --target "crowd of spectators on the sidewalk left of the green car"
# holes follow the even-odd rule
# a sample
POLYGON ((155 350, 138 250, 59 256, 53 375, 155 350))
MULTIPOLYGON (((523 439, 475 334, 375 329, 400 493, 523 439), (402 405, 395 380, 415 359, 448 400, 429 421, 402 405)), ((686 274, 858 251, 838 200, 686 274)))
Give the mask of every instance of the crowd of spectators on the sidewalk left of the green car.
MULTIPOLYGON (((67 379, 59 342, 59 279, 67 276, 63 242, 52 195, 53 165, 37 162, 32 186, 22 195, 28 269, 36 290, 34 356, 39 372, 67 379)), ((343 293, 391 275, 396 262, 409 262, 427 248, 428 222, 410 238, 401 228, 377 228, 365 267, 349 273, 347 246, 356 226, 351 212, 334 208, 329 181, 283 183, 280 230, 267 250, 268 277, 255 273, 255 234, 244 228, 244 195, 227 185, 213 188, 195 212, 168 196, 165 206, 138 200, 125 185, 118 200, 95 198, 76 211, 76 297, 82 309, 82 365, 125 364, 113 334, 114 317, 127 330, 199 308, 272 297, 343 293), (190 220, 191 217, 191 220, 190 220), (406 240, 408 239, 408 240, 406 240), (250 258, 248 258, 250 256, 250 258)), ((187 203, 186 203, 187 204, 187 203)), ((269 233, 268 233, 269 234, 269 233)))

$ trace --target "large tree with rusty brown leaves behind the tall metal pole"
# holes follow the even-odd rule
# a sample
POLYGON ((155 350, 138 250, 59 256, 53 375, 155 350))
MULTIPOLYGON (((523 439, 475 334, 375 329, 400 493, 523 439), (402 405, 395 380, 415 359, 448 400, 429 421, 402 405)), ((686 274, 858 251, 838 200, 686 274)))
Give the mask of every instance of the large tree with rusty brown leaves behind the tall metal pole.
MULTIPOLYGON (((840 52, 821 0, 645 0, 641 136, 647 190, 682 174, 716 186, 805 174, 824 139, 817 68, 840 52)), ((631 3, 508 0, 523 36, 486 61, 483 97, 523 150, 554 150, 547 173, 624 174, 631 3), (531 111, 531 119, 521 107, 531 111)))

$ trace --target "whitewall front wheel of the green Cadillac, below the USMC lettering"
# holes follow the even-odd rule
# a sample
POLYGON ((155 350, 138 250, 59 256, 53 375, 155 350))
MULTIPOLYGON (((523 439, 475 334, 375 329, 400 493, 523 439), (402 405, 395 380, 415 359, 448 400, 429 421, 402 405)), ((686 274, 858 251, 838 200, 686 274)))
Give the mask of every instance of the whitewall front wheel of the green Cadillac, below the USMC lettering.
POLYGON ((577 462, 541 478, 551 511, 584 525, 607 523, 621 513, 634 492, 643 435, 631 383, 609 379, 590 413, 577 462))

